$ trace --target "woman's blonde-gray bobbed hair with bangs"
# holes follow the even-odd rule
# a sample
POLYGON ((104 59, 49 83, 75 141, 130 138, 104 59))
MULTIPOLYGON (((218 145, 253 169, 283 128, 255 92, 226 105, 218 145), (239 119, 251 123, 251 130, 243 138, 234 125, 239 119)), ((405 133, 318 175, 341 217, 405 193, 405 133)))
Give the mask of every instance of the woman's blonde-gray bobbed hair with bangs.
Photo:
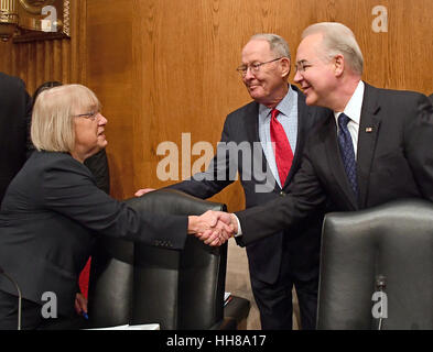
POLYGON ((96 111, 100 103, 82 85, 64 85, 43 90, 32 113, 31 139, 37 151, 72 152, 75 146, 74 116, 96 111))

